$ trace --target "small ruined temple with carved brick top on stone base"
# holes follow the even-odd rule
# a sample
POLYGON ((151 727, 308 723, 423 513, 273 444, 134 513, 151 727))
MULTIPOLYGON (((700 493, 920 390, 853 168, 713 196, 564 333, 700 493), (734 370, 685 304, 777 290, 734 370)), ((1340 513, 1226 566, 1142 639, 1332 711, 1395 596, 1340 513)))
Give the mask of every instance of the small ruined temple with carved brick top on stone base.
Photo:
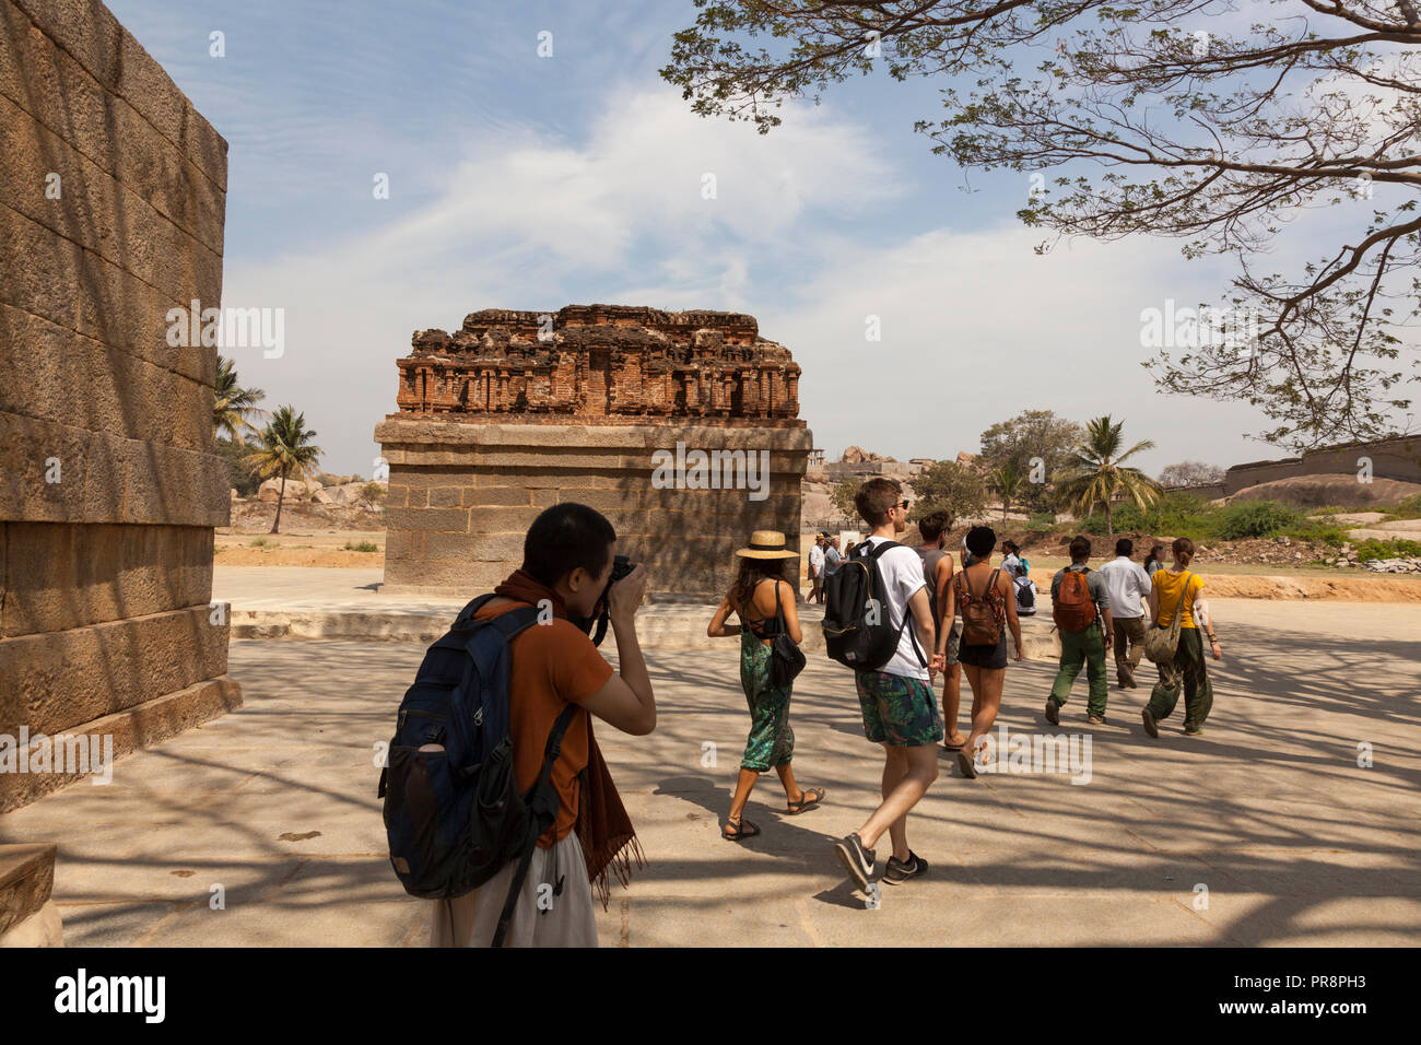
POLYGON ((492 589, 560 500, 603 512, 664 597, 719 599, 752 530, 797 550, 813 448, 800 368, 753 317, 486 310, 453 336, 416 331, 414 347, 398 361, 401 412, 375 429, 387 591, 492 589))

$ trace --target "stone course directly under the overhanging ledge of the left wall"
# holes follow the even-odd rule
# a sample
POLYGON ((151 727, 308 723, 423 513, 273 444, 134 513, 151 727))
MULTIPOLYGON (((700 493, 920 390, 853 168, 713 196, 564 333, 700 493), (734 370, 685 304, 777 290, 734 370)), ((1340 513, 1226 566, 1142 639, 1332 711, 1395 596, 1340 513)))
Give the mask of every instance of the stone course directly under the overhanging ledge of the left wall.
POLYGON ((0 638, 163 613, 212 594, 207 527, 0 523, 0 638))

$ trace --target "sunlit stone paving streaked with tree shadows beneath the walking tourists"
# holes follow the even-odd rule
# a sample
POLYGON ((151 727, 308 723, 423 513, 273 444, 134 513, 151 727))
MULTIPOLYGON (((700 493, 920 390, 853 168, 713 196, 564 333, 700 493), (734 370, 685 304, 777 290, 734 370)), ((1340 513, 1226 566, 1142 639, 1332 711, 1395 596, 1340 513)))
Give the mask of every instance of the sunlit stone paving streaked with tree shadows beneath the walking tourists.
MULTIPOLYGON (((932 870, 884 887, 877 910, 830 852, 881 772, 847 672, 811 655, 794 694, 796 771, 826 806, 784 816, 770 778, 749 808, 764 833, 732 845, 718 822, 747 719, 736 643, 654 651, 657 732, 598 729, 651 862, 598 913, 603 944, 1421 944, 1421 607, 1214 609, 1226 660, 1204 738, 1184 738, 1177 712, 1151 741, 1148 688, 1113 688, 1086 785, 965 781, 944 758, 909 819, 932 870)), ((70 945, 419 945, 426 906, 389 870, 372 745, 421 654, 233 643, 239 712, 121 761, 109 786, 0 818, 0 842, 60 843, 70 945)), ((1052 674, 1010 665, 999 721, 1047 731, 1052 674)), ((1061 731, 1086 729, 1083 697, 1080 680, 1061 731)))

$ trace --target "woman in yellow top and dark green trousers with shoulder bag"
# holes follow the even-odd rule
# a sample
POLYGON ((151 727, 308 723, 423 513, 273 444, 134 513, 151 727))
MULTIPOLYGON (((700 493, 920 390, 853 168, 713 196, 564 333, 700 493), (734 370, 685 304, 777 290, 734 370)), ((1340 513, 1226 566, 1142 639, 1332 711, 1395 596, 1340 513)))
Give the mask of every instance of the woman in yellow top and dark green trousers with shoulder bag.
POLYGON ((1189 570, 1189 560, 1194 559, 1194 542, 1179 537, 1174 542, 1174 563, 1167 570, 1155 570, 1150 579, 1150 616, 1160 627, 1174 624, 1174 614, 1179 617, 1179 645, 1175 648, 1174 661, 1160 665, 1160 681, 1150 692, 1150 704, 1141 712, 1145 722, 1145 732, 1158 738, 1158 722, 1169 717, 1174 705, 1179 701, 1179 690, 1184 690, 1184 732, 1188 736, 1198 736, 1204 732, 1204 719, 1209 717, 1214 707, 1214 685, 1209 682, 1209 672, 1204 667, 1204 638, 1209 640, 1209 650, 1214 660, 1223 655, 1223 647, 1214 636, 1214 621, 1204 617, 1204 633, 1194 618, 1194 604, 1204 589, 1204 579, 1189 570))

